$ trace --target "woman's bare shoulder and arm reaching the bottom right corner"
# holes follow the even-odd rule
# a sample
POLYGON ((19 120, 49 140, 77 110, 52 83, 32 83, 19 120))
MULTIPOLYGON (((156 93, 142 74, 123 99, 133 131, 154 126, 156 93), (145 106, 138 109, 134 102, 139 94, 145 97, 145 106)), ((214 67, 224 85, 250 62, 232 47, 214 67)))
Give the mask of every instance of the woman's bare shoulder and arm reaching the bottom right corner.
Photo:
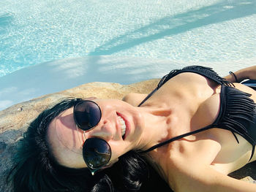
MULTIPOLYGON (((191 147, 191 142, 187 145, 191 147)), ((219 142, 208 139, 207 142, 198 142, 195 147, 187 149, 186 156, 172 153, 170 160, 167 161, 167 170, 170 170, 168 177, 170 188, 175 192, 256 191, 255 184, 229 177, 225 171, 217 171, 217 167, 212 162, 220 150, 219 142)))

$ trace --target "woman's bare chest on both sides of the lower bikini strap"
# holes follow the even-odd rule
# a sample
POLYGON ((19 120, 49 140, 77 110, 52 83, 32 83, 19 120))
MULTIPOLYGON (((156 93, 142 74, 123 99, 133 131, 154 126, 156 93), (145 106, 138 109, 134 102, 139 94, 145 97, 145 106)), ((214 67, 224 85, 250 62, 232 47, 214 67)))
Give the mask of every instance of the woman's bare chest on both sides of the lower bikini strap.
MULTIPOLYGON (((219 86, 203 82, 173 85, 173 82, 170 81, 159 89, 155 95, 156 98, 169 105, 172 111, 169 138, 196 131, 214 123, 221 106, 220 92, 219 86)), ((198 159, 207 164, 217 165, 228 162, 246 164, 249 155, 249 152, 247 154, 246 151, 250 151, 251 147, 244 138, 239 137, 240 140, 241 143, 238 145, 230 131, 211 128, 178 139, 168 146, 162 147, 161 150, 167 150, 164 154, 170 152, 185 159, 189 157, 195 159, 196 155, 198 159), (244 158, 240 158, 240 156, 244 158)))

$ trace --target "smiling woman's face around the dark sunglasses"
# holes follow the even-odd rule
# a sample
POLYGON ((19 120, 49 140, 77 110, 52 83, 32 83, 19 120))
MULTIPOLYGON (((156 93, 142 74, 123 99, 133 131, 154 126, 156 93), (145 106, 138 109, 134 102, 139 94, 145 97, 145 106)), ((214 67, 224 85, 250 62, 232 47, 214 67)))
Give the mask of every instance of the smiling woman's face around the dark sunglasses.
POLYGON ((86 167, 83 161, 83 143, 91 137, 104 139, 111 147, 111 162, 129 150, 140 148, 143 119, 138 107, 112 99, 91 99, 96 102, 102 118, 97 126, 83 132, 77 128, 73 117, 73 107, 61 112, 48 128, 48 142, 59 164, 72 168, 86 167), (125 123, 125 126, 122 124, 125 123), (124 135, 123 135, 124 134, 124 135))

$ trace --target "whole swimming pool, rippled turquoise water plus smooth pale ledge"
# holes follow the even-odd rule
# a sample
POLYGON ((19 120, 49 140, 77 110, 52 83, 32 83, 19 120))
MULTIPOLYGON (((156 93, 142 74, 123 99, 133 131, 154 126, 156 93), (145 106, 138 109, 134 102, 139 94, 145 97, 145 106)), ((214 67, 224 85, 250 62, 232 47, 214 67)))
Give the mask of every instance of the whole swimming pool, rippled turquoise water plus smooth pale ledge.
POLYGON ((1 0, 0 110, 84 84, 256 64, 256 0, 1 0), (20 69, 20 70, 18 70, 20 69))

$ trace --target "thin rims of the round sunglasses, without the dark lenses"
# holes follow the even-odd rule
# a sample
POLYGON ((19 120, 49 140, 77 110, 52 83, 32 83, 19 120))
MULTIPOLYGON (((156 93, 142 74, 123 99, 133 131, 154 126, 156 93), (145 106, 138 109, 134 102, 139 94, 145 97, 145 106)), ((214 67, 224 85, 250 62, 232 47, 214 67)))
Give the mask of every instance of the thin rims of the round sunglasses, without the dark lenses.
MULTIPOLYGON (((100 109, 99 105, 98 105, 96 102, 91 101, 91 100, 82 100, 82 101, 78 101, 78 103, 76 103, 76 104, 74 105, 74 108, 73 108, 73 118, 74 118, 74 120, 75 120, 75 125, 76 125, 76 127, 77 127, 77 128, 80 128, 81 130, 83 130, 83 128, 81 128, 81 126, 80 126, 79 123, 78 123, 78 120, 75 118, 75 107, 78 106, 78 104, 83 103, 83 102, 91 102, 91 103, 96 104, 96 106, 99 108, 99 112, 100 112, 99 121, 100 121, 101 118, 102 118, 102 110, 100 109)), ((98 122, 95 126, 92 126, 91 128, 89 128, 89 129, 87 129, 87 130, 83 130, 83 134, 85 134, 87 131, 90 131, 91 129, 93 129, 94 127, 96 127, 98 124, 99 124, 99 122, 98 122)), ((91 138, 89 138, 89 139, 101 139, 101 138, 91 137, 91 138)), ((108 142, 106 142, 104 139, 101 139, 101 140, 104 141, 104 142, 108 145, 108 147, 109 147, 109 149, 110 149, 110 158, 109 158, 109 160, 108 160, 108 162, 107 162, 106 164, 104 164, 104 165, 102 165, 102 166, 99 166, 99 167, 97 167, 97 168, 94 168, 94 167, 91 167, 91 165, 90 165, 89 163, 87 163, 86 160, 85 160, 85 158, 83 157, 83 161, 85 161, 85 163, 86 163, 86 165, 87 165, 87 168, 90 170, 90 172, 91 172, 92 175, 94 175, 95 172, 98 172, 99 170, 104 169, 105 167, 108 167, 108 163, 110 162, 110 159, 111 159, 111 156, 112 156, 112 150, 111 150, 111 147, 110 147, 110 145, 108 144, 108 142)), ((85 142, 83 143, 83 147, 86 147, 86 146, 85 146, 85 142)), ((84 155, 83 155, 83 156, 84 156, 84 155)))

